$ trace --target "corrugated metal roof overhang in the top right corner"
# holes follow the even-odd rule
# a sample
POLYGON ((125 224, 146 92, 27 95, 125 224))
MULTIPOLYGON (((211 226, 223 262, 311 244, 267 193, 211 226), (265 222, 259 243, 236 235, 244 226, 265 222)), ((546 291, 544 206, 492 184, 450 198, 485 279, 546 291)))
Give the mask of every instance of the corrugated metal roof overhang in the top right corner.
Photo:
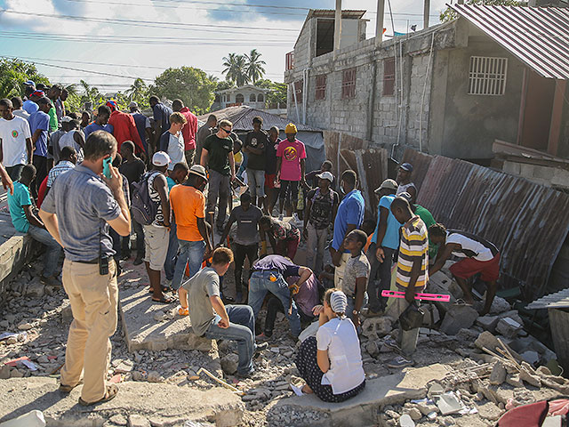
POLYGON ((453 4, 541 77, 569 79, 569 9, 453 4))

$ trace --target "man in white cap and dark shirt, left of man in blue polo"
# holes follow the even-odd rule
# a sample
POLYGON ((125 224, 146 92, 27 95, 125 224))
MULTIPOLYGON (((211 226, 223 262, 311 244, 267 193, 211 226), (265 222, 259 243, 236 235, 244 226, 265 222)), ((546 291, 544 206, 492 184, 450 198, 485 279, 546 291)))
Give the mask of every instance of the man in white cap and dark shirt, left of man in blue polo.
POLYGON ((316 175, 317 189, 311 189, 307 195, 304 211, 304 230, 302 236, 307 239, 306 262, 317 275, 324 268, 324 251, 328 240, 328 228, 336 216, 340 197, 330 188, 333 174, 323 172, 316 175))

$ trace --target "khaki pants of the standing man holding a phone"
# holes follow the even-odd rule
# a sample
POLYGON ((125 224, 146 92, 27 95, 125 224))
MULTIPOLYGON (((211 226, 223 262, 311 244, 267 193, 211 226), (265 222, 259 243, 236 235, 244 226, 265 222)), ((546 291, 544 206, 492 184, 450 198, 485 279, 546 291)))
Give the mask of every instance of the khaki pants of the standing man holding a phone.
POLYGON ((73 322, 69 327, 61 383, 76 385, 84 370, 81 398, 94 402, 105 395, 110 362, 109 336, 116 331, 116 264, 108 261, 108 275, 100 276, 99 264, 63 262, 63 287, 68 294, 73 322))

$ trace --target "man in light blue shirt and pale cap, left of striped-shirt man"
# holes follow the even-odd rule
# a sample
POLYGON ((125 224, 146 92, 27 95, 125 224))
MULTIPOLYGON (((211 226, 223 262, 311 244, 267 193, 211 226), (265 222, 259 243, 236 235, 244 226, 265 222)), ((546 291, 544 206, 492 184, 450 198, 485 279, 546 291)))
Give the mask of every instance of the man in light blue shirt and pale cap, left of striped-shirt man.
POLYGON ((372 244, 367 251, 372 270, 367 284, 367 294, 370 297, 372 315, 379 314, 387 306, 387 298, 381 297, 381 291, 391 286, 391 264, 393 255, 399 247, 399 229, 401 225, 391 212, 391 202, 395 198, 397 181, 385 180, 379 189, 375 190, 380 197, 377 206, 377 224, 373 231, 372 244), (379 274, 379 281, 376 280, 379 274))

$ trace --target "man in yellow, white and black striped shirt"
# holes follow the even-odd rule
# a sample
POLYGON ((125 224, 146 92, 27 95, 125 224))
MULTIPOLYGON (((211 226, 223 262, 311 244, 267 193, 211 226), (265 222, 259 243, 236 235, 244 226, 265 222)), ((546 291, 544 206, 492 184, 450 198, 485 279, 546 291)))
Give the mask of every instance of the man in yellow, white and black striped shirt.
MULTIPOLYGON (((398 222, 403 223, 399 255, 397 257, 397 287, 405 291, 405 299, 397 298, 394 302, 394 314, 401 313, 415 300, 415 294, 421 292, 429 281, 429 235, 425 223, 413 214, 409 202, 404 197, 396 197, 391 203, 391 212, 398 222)), ((386 340, 388 347, 400 350, 403 356, 388 363, 388 367, 409 367, 413 365, 411 356, 417 348, 419 328, 404 331, 399 327, 397 342, 386 340), (400 347, 399 347, 400 346, 400 347)))

